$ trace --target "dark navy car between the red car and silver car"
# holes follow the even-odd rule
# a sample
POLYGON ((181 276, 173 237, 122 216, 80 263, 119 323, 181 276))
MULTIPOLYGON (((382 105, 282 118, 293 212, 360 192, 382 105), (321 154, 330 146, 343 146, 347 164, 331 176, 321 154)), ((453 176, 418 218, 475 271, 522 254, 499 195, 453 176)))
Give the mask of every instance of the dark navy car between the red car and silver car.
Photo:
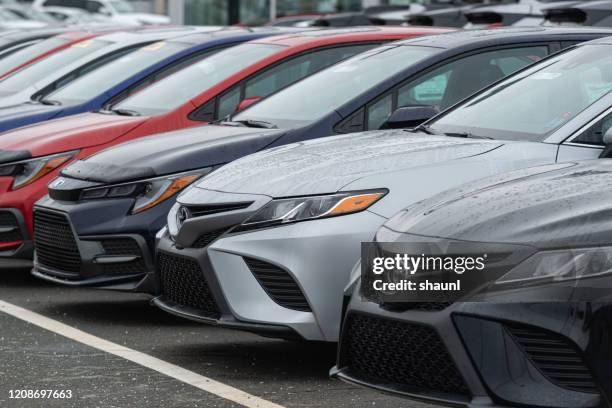
MULTIPOLYGON (((33 274, 72 285, 155 292, 155 231, 166 223, 175 197, 132 214, 148 183, 198 172, 207 174, 248 154, 322 136, 409 126, 436 109, 559 50, 565 41, 610 34, 590 29, 509 29, 461 32, 400 41, 367 51, 302 80, 256 105, 207 125, 128 142, 66 167, 35 211, 67 219, 80 248, 77 278, 45 273, 35 260, 33 274), (157 180, 157 181, 156 181, 157 180), (143 190, 144 188, 144 190, 143 190), (113 191, 113 194, 95 192, 113 191), (92 193, 93 192, 93 193, 92 193), (119 192, 119 196, 117 196, 119 192), (92 195, 93 194, 93 195, 92 195), (102 242, 115 240, 109 248, 102 242), (121 244, 119 244, 121 243, 121 244), (109 265, 96 258, 115 256, 109 265)), ((228 93, 235 92, 230 89, 228 93)), ((36 223, 34 230, 36 233, 36 223)), ((65 275, 69 276, 69 275, 65 275)))

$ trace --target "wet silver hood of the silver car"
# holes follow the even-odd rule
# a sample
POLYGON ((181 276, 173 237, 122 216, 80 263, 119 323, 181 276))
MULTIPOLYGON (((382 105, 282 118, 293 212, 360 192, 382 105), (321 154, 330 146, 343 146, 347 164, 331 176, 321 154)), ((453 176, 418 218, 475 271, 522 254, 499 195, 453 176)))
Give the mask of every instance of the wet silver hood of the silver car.
POLYGON ((479 155, 499 145, 404 130, 349 134, 245 157, 212 173, 198 187, 272 197, 333 193, 360 178, 479 155))

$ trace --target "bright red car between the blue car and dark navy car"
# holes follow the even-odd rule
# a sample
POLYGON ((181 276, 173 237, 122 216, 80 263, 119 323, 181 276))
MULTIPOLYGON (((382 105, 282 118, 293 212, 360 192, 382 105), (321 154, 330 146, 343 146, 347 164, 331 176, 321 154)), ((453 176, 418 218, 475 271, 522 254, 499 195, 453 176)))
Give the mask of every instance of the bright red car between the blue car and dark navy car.
POLYGON ((224 118, 383 42, 447 31, 353 27, 266 37, 222 50, 100 112, 1 134, 0 266, 29 265, 32 206, 66 164, 128 140, 224 118))

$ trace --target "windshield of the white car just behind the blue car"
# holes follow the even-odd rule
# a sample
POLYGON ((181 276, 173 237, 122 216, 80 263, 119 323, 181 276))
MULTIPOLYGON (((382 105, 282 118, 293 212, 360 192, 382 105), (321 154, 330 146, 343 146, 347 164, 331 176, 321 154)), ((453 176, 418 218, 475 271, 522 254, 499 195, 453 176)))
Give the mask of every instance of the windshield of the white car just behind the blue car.
POLYGON ((22 91, 49 74, 64 68, 66 65, 91 54, 109 44, 107 41, 86 40, 50 55, 32 65, 17 71, 0 82, 0 95, 7 96, 22 91))

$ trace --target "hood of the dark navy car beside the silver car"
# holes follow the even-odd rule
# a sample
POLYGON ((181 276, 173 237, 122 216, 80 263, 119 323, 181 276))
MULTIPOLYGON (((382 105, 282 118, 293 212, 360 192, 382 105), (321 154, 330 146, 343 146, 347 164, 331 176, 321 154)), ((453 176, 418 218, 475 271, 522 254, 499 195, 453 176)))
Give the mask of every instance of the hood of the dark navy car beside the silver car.
POLYGON ((284 132, 198 126, 123 143, 75 162, 62 174, 81 180, 116 183, 205 168, 257 152, 284 132))

